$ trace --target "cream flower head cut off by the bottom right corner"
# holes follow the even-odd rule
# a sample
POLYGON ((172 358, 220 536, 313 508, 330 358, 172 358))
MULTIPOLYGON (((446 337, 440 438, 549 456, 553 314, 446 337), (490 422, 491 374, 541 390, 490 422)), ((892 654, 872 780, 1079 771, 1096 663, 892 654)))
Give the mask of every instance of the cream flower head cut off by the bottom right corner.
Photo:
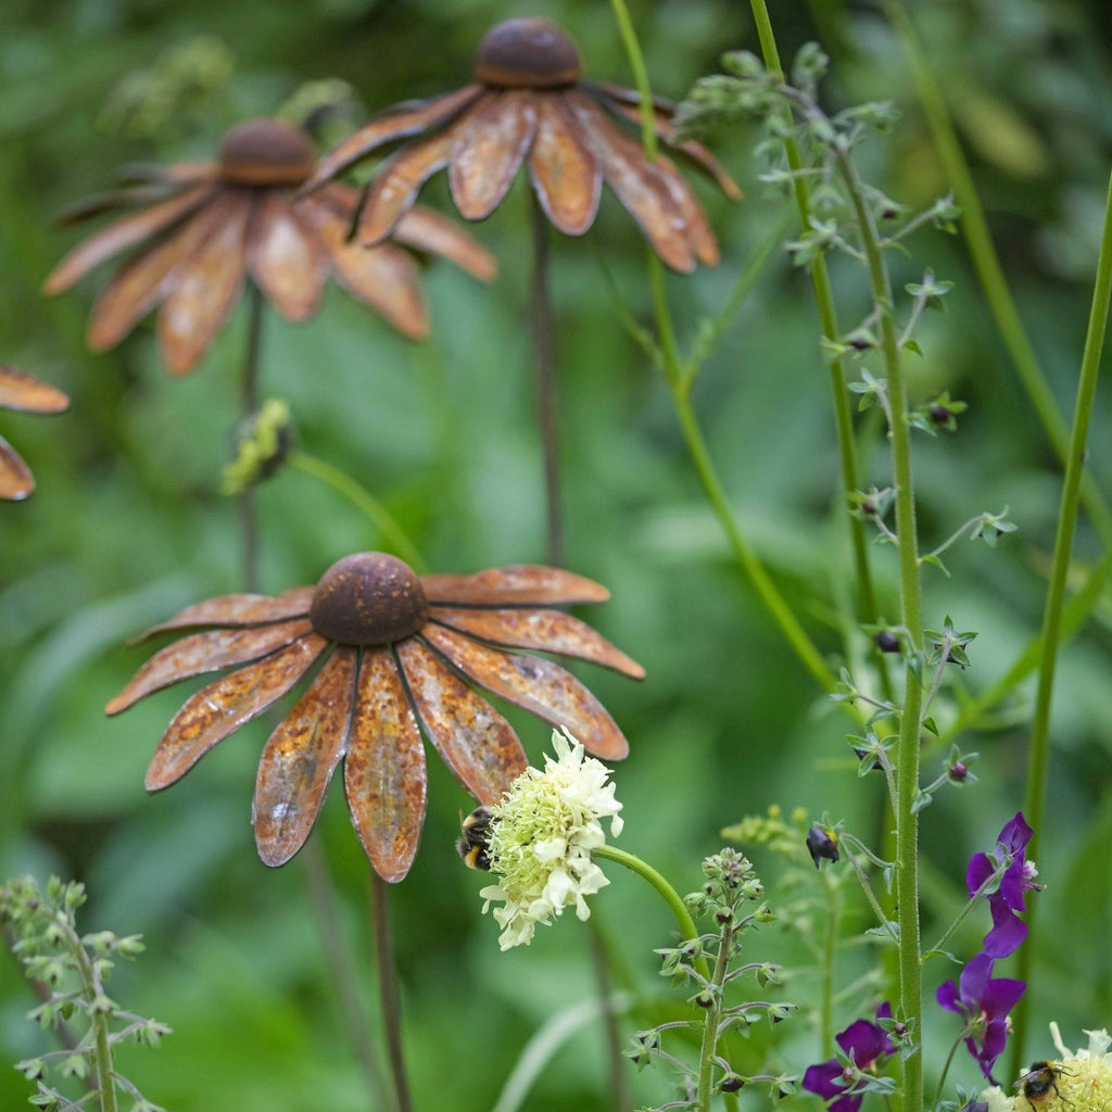
POLYGON ((1016 1082, 1020 1091, 1015 1095, 1010 1096, 996 1086, 985 1090, 981 1099, 987 1103, 989 1112, 1032 1112, 1033 1109, 1039 1112, 1106 1112, 1112 1109, 1112 1053, 1109 1053, 1112 1035, 1103 1027, 1086 1031, 1089 1045, 1074 1052, 1066 1049, 1056 1023, 1051 1023, 1050 1033, 1058 1059, 1034 1063, 1032 1071, 1016 1082), (1049 1092, 1037 1095, 1027 1092, 1031 1084, 1042 1088, 1048 1071, 1053 1078, 1049 1092))

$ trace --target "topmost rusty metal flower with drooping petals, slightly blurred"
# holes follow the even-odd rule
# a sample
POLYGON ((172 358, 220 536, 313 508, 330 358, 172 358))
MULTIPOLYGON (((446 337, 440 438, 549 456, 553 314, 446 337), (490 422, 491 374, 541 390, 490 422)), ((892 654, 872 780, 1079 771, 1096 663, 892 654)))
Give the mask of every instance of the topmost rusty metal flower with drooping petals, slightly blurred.
MULTIPOLYGON (((639 97, 583 78, 575 44, 545 19, 498 23, 479 43, 476 82, 431 100, 399 105, 321 159, 308 192, 371 151, 419 137, 394 155, 367 193, 358 234, 378 242, 397 226, 421 185, 448 169, 451 196, 468 220, 488 217, 523 162, 549 220, 569 236, 594 222, 603 181, 676 270, 714 264, 718 248, 703 209, 675 165, 646 159, 631 125, 639 97)), ((731 197, 737 187, 697 142, 677 142, 672 106, 653 105, 656 133, 707 171, 731 197)))

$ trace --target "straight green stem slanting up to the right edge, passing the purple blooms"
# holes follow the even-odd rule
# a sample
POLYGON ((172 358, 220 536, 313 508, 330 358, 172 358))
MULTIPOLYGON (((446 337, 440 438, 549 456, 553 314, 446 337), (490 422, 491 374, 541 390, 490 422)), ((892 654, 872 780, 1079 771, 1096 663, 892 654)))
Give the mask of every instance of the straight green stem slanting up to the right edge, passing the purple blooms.
MULTIPOLYGON (((1081 504, 1085 445, 1089 440, 1089 425, 1093 414, 1093 400, 1096 396, 1096 379, 1100 373, 1101 353, 1104 349, 1104 332, 1110 301, 1112 301, 1112 178, 1109 179, 1105 199, 1101 251, 1096 260, 1096 278, 1089 312, 1089 328, 1085 334, 1084 353, 1081 357, 1078 397, 1073 409, 1073 428, 1070 433, 1065 479, 1062 484, 1062 498, 1058 512, 1054 558, 1051 564, 1050 586, 1043 612, 1042 659, 1039 665, 1039 689, 1035 695, 1034 721, 1031 725, 1031 752, 1027 757, 1027 790, 1023 804, 1023 814, 1034 830, 1027 847, 1033 860, 1039 858, 1039 845, 1044 825, 1046 781, 1050 771, 1050 712, 1054 696, 1054 672, 1058 665, 1058 648, 1061 639, 1062 609, 1065 599, 1066 577, 1070 573, 1070 557, 1073 550, 1073 534, 1081 504)), ((1020 950, 1021 979, 1029 982, 1032 954, 1034 953, 1032 937, 1034 935, 1034 920, 1035 913, 1034 907, 1032 907, 1027 912, 1026 945, 1020 950)), ((1015 1036, 1012 1043, 1013 1073, 1017 1075, 1027 1024, 1025 997, 1021 999, 1015 1009, 1013 1022, 1015 1024, 1015 1036)))

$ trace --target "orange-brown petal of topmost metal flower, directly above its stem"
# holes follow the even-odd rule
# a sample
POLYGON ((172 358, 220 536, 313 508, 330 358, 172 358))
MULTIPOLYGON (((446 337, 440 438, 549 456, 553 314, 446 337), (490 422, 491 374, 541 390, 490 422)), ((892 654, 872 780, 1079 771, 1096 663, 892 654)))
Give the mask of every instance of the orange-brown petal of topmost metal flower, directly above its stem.
POLYGON ((560 231, 582 236, 594 224, 603 175, 579 139, 562 97, 537 97, 537 138, 529 151, 529 176, 542 208, 560 231))

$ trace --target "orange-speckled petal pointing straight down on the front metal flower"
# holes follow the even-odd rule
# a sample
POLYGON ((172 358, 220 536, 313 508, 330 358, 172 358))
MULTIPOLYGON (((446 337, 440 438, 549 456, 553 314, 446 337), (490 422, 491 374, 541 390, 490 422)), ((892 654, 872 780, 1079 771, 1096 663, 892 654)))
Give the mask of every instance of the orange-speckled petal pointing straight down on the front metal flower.
POLYGON ((400 881, 417 854, 427 773, 417 717, 388 648, 364 649, 344 757, 351 822, 375 872, 400 881))

